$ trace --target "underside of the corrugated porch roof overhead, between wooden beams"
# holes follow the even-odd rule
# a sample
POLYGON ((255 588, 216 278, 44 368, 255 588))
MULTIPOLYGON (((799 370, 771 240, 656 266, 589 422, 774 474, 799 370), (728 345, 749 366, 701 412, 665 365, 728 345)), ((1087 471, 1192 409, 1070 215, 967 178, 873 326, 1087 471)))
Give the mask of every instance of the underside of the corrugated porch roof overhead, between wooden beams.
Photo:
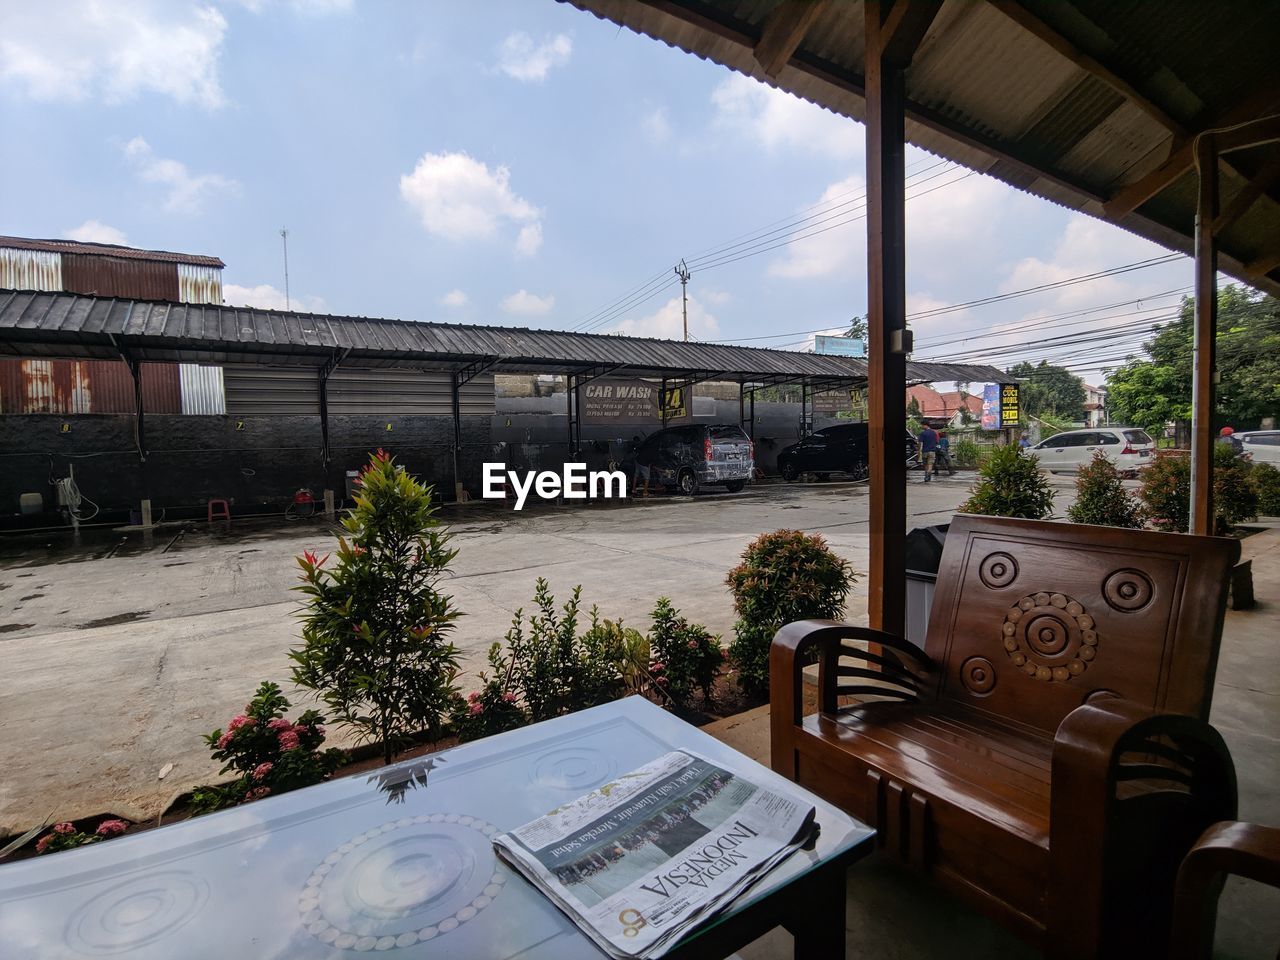
MULTIPOLYGON (((669 46, 755 77, 861 120, 864 5, 828 4, 774 78, 754 58, 778 0, 563 0, 669 46)), ((1059 52, 993 3, 945 0, 906 73, 908 140, 924 150, 1056 204, 1192 253, 1194 192, 1165 192, 1114 215, 1102 204, 1164 164, 1179 137, 1217 125, 1242 101, 1254 116, 1280 111, 1275 4, 1249 0, 1018 0, 1146 104, 1059 52), (1176 128, 1176 129, 1175 129, 1176 128)), ((1272 147, 1275 155, 1280 147, 1272 147)), ((1231 155, 1222 206, 1256 175, 1256 159, 1231 155)), ((1174 184, 1170 184, 1172 187, 1174 184)), ((1280 201, 1263 196, 1220 237, 1220 269, 1280 296, 1280 266, 1247 265, 1280 252, 1280 201)))

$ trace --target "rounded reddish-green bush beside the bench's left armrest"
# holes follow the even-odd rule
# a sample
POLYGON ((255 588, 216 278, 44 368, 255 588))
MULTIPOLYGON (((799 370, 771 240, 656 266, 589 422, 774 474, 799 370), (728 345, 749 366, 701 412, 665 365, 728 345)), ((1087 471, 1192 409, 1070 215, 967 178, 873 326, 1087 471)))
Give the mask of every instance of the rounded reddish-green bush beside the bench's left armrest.
POLYGON ((774 530, 748 544, 727 582, 737 613, 728 659, 742 689, 760 695, 769 689, 773 635, 797 620, 840 617, 856 576, 822 536, 774 530))

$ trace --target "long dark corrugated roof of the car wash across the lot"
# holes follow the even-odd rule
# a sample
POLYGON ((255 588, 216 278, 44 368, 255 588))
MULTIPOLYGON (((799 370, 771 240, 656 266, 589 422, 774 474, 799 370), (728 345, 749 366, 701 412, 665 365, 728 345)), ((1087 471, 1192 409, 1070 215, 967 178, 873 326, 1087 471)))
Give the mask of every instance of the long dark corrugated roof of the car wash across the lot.
MULTIPOLYGON (((337 356, 351 366, 462 369, 490 372, 604 372, 641 376, 778 378, 810 383, 867 378, 867 361, 782 349, 641 337, 284 314, 252 307, 163 303, 74 293, 0 291, 0 355, 296 364, 337 356)), ((911 380, 998 380, 980 365, 909 364, 911 380)))

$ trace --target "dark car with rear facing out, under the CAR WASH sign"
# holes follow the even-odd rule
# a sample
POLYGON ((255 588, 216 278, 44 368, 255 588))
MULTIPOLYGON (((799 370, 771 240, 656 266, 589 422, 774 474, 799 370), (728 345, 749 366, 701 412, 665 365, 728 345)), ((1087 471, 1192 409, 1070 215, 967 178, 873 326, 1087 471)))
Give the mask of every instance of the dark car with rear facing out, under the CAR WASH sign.
POLYGON ((644 439, 631 472, 689 497, 701 486, 737 493, 755 474, 755 444, 737 424, 671 426, 644 439))

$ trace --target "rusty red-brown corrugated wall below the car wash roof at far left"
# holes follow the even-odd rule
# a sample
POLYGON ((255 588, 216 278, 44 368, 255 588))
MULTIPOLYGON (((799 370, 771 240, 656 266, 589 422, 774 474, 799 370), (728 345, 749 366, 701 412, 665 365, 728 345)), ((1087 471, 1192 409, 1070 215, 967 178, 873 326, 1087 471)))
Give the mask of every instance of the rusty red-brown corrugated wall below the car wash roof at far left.
MULTIPOLYGON (((180 413, 177 364, 142 365, 142 408, 180 413)), ((0 360, 0 413, 132 413, 123 360, 0 360)))

